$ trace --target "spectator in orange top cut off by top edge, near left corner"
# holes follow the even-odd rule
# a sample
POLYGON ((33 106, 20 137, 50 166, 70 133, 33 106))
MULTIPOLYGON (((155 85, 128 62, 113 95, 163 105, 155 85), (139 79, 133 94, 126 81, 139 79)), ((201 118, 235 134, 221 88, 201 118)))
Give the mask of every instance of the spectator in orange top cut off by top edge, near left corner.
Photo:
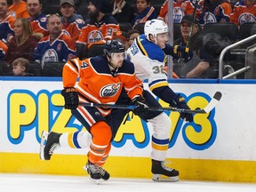
POLYGON ((9 7, 8 11, 16 19, 29 17, 27 4, 21 0, 12 0, 12 5, 9 7))

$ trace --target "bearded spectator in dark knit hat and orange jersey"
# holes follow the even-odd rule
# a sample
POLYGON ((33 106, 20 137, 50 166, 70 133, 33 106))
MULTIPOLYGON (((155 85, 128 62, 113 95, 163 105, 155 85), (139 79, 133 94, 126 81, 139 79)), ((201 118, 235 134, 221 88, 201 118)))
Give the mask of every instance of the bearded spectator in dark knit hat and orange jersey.
POLYGON ((109 0, 91 0, 88 5, 88 18, 76 44, 95 44, 112 38, 119 31, 119 24, 111 13, 109 0))

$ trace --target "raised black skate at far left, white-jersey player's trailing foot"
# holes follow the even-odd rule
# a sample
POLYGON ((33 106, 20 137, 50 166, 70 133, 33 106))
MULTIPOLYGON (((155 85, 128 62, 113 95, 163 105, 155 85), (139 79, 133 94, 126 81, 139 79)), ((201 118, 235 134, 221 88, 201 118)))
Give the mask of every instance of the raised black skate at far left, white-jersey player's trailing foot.
POLYGON ((41 160, 50 160, 53 151, 60 147, 60 133, 57 132, 42 132, 40 143, 40 158, 41 160), (45 146, 44 146, 44 142, 45 146))

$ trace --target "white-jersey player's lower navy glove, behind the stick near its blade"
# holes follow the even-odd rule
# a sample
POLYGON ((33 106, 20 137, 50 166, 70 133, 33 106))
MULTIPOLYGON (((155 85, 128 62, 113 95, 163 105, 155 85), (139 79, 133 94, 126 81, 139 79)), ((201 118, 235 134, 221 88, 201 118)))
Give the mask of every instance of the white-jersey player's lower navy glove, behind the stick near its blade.
MULTIPOLYGON (((190 109, 183 97, 180 96, 180 94, 177 94, 175 99, 172 100, 170 106, 172 108, 187 108, 190 109)), ((180 118, 184 121, 192 122, 193 121, 193 115, 191 113, 180 113, 180 118)))

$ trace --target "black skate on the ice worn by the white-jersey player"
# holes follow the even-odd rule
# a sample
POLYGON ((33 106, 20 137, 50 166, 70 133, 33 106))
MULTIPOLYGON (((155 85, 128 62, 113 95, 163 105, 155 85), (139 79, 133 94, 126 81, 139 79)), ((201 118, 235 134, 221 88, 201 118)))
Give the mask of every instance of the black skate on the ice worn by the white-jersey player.
POLYGON ((175 169, 165 166, 164 161, 156 161, 152 159, 151 172, 155 181, 178 181, 179 172, 175 169))

